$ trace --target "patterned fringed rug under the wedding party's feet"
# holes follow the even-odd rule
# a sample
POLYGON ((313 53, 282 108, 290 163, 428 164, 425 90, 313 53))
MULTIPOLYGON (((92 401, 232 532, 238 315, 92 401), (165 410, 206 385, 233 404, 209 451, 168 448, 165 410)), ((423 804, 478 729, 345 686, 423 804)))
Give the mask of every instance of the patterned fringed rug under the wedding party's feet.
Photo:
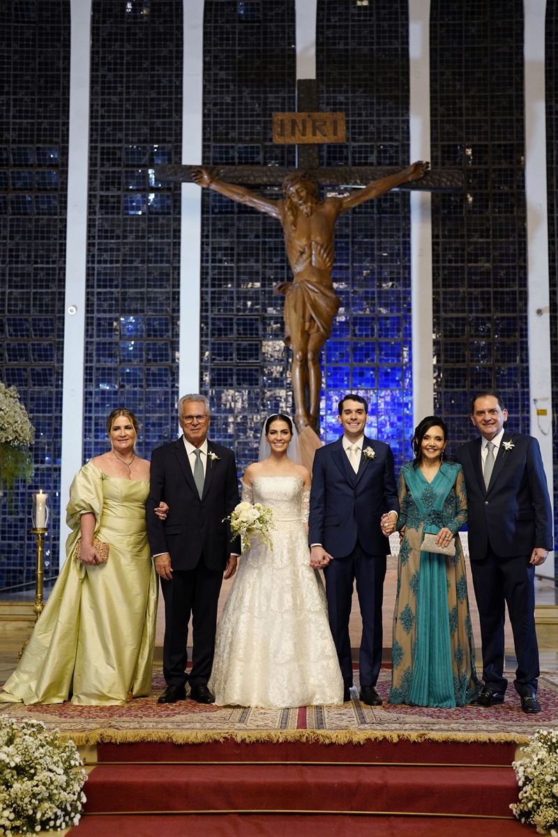
POLYGON ((525 744, 541 728, 558 727, 558 675, 539 680, 539 715, 525 715, 510 680, 504 704, 483 709, 432 709, 387 704, 391 672, 382 670, 377 691, 383 706, 358 700, 355 673, 353 700, 344 706, 305 706, 298 709, 249 709, 241 706, 202 706, 194 701, 163 705, 156 702, 165 688, 160 672, 153 675, 151 695, 125 706, 49 706, 0 704, 0 717, 18 721, 39 718, 78 745, 99 742, 162 741, 202 743, 233 737, 237 741, 306 740, 321 742, 390 741, 515 742, 525 744))

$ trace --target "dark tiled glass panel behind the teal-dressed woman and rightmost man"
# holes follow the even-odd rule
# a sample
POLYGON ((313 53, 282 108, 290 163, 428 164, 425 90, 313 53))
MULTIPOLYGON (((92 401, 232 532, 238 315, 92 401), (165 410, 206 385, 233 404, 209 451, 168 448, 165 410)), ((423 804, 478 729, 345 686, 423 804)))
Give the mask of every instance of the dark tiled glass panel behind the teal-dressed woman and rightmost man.
POLYGON ((497 389, 529 433, 523 3, 431 7, 433 167, 465 195, 433 195, 435 407, 450 449, 474 436, 470 398, 497 389))

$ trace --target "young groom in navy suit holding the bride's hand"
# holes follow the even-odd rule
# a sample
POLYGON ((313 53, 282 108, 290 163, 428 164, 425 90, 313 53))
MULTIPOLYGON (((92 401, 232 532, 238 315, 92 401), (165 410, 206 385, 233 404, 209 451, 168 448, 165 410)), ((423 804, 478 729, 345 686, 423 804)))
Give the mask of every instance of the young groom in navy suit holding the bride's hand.
POLYGON ((361 605, 359 652, 361 701, 381 706, 376 680, 381 666, 381 604, 386 578, 386 540, 397 522, 397 487, 388 444, 364 435, 368 404, 360 395, 339 403, 343 435, 316 450, 310 493, 310 563, 323 567, 325 591, 343 681, 351 700, 349 617, 353 583, 361 605))

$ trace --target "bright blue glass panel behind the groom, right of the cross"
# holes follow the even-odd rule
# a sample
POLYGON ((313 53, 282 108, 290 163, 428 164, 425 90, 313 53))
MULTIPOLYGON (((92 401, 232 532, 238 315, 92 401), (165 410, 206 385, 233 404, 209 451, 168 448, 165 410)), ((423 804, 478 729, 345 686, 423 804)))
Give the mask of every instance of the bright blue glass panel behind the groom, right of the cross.
MULTIPOLYGON (((409 165, 408 9, 399 0, 318 3, 320 106, 346 113, 345 145, 326 166, 409 165)), ((333 190, 332 190, 333 191, 333 190)), ((391 192, 337 220, 333 279, 341 307, 325 349, 325 439, 339 435, 347 391, 369 403, 366 432, 410 455, 412 353, 409 195, 391 192)))

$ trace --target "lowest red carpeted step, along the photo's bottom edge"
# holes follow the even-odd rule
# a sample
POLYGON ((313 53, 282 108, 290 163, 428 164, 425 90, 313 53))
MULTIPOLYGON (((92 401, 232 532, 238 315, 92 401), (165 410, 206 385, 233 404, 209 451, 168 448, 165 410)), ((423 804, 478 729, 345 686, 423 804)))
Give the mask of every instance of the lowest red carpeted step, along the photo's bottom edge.
POLYGON ((161 814, 82 817, 69 837, 535 837, 516 819, 328 814, 161 814))

